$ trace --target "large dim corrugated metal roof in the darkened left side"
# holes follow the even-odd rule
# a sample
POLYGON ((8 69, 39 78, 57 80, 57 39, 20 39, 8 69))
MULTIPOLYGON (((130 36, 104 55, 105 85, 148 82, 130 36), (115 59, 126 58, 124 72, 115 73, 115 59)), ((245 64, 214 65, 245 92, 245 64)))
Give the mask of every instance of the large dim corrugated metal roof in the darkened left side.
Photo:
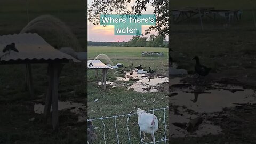
POLYGON ((20 60, 73 60, 74 62, 81 62, 71 55, 58 51, 36 33, 0 36, 0 58, 0 62, 20 60), (15 43, 19 52, 3 53, 4 47, 11 43, 15 43))

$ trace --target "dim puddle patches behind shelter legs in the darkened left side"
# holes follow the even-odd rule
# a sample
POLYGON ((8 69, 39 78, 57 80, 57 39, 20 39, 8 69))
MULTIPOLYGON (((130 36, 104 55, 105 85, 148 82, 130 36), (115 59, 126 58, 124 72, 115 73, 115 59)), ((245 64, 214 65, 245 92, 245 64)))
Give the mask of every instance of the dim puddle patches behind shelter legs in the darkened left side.
MULTIPOLYGON (((82 103, 70 102, 70 101, 59 101, 58 102, 58 110, 70 110, 72 113, 78 114, 78 122, 86 121, 86 106, 82 103)), ((52 111, 52 108, 51 108, 52 111)), ((34 105, 34 112, 37 114, 44 113, 44 105, 40 103, 36 103, 34 105)))

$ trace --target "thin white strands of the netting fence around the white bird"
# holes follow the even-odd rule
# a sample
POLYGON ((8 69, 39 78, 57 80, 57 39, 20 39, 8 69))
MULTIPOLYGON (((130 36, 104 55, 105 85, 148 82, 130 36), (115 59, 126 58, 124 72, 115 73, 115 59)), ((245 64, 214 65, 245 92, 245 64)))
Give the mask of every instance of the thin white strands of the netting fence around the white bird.
MULTIPOLYGON (((155 142, 149 142, 149 143, 143 143, 142 141, 142 136, 141 136, 141 131, 140 131, 140 139, 141 139, 141 143, 143 144, 150 144, 150 143, 159 143, 159 142, 165 142, 165 144, 167 144, 168 142, 168 138, 166 138, 166 120, 165 120, 165 111, 166 109, 168 109, 168 107, 165 107, 165 108, 159 108, 159 109, 153 109, 153 110, 148 110, 148 111, 145 111, 146 113, 147 112, 152 112, 153 115, 154 115, 154 111, 159 111, 159 110, 163 110, 163 115, 164 115, 164 139, 161 139, 161 140, 158 140, 158 141, 155 141, 155 142)), ((106 126, 105 126, 105 123, 103 122, 103 119, 109 119, 109 118, 115 118, 115 130, 116 130, 116 138, 117 138, 117 143, 119 144, 119 136, 118 136, 118 131, 117 131, 117 126, 116 126, 116 118, 117 117, 124 117, 124 116, 127 116, 127 121, 126 121, 126 127, 127 127, 127 131, 128 131, 128 139, 129 139, 129 144, 131 144, 131 139, 130 139, 130 130, 129 130, 129 125, 128 125, 128 122, 129 122, 129 118, 131 117, 131 115, 137 115, 137 113, 131 113, 131 114, 126 114, 126 115, 118 115, 118 116, 110 116, 110 117, 101 117, 101 118, 94 118, 94 119, 88 119, 87 121, 96 121, 96 120, 101 120, 102 124, 103 124, 103 129, 104 129, 104 132, 103 132, 103 139, 104 139, 104 142, 105 144, 107 144, 106 142, 106 126)), ((154 135, 154 133, 153 133, 154 135)), ((154 135, 155 136, 155 135, 154 135)))

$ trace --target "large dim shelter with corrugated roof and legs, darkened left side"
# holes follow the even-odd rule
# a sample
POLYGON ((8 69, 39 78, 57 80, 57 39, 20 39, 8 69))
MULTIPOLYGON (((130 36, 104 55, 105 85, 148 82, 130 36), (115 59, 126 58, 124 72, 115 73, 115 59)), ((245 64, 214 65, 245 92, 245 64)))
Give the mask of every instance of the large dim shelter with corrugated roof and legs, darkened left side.
POLYGON ((0 36, 0 65, 8 64, 25 64, 26 65, 26 82, 29 87, 31 97, 34 97, 33 79, 31 73, 31 64, 46 63, 48 64, 47 75, 49 77, 49 86, 46 94, 44 107, 44 116, 47 118, 52 106, 52 127, 58 129, 58 84, 59 76, 63 63, 69 61, 81 62, 68 54, 48 44, 41 36, 36 33, 24 33, 0 36), (18 52, 7 51, 2 49, 7 45, 15 43, 18 52))

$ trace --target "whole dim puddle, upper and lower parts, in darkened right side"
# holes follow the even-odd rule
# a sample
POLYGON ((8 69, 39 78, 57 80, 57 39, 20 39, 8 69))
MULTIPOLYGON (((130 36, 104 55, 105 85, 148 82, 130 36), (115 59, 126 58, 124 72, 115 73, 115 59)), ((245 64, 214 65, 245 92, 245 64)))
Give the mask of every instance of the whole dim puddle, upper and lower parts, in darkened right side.
POLYGON ((214 125, 213 119, 209 117, 215 115, 215 112, 222 111, 225 107, 235 107, 243 103, 256 103, 255 91, 243 89, 239 86, 218 83, 193 86, 181 83, 179 78, 170 79, 169 83, 172 83, 169 86, 173 88, 169 95, 169 101, 171 102, 169 121, 172 123, 172 137, 218 135, 221 133, 221 128, 214 125), (202 117, 203 122, 197 127, 197 130, 191 133, 188 133, 184 127, 173 124, 187 124, 196 117, 202 117))

